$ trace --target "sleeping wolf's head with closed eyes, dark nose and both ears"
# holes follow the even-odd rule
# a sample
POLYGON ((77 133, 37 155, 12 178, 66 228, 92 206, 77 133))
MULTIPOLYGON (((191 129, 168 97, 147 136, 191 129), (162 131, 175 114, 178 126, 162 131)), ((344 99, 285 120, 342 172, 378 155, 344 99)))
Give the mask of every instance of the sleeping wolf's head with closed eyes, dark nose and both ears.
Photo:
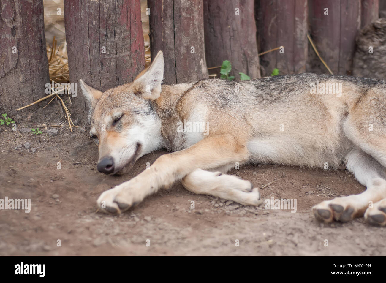
POLYGON ((163 53, 132 83, 100 92, 80 80, 88 102, 90 136, 98 145, 98 171, 123 173, 141 156, 157 149, 162 142, 161 122, 151 101, 161 93, 164 75, 163 53))

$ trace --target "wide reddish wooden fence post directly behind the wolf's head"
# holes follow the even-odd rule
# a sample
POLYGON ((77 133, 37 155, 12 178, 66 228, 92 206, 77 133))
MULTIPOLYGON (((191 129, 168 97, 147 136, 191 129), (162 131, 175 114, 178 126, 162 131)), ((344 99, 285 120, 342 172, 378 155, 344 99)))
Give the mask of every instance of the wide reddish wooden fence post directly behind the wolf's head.
MULTIPOLYGON (((64 0, 64 19, 71 83, 105 91, 145 68, 139 0, 64 0)), ((83 95, 73 105, 85 108, 83 95)))

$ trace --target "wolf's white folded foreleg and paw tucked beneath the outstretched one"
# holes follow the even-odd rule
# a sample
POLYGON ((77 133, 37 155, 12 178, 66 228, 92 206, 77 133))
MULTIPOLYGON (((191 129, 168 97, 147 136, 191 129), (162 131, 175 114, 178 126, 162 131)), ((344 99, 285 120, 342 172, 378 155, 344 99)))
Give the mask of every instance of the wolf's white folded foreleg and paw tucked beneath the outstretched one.
POLYGON ((233 200, 242 205, 259 205, 262 199, 259 188, 234 175, 196 169, 182 180, 186 190, 197 194, 233 200))

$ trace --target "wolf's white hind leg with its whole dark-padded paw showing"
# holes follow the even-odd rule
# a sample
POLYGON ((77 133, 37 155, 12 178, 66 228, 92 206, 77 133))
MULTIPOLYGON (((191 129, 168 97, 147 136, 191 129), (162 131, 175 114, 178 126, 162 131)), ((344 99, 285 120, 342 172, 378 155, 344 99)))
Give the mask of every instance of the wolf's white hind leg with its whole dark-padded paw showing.
POLYGON ((386 198, 386 180, 383 166, 359 148, 352 149, 346 156, 347 169, 367 189, 359 195, 338 197, 315 205, 312 211, 318 220, 331 222, 334 219, 348 222, 363 216, 369 203, 386 198))

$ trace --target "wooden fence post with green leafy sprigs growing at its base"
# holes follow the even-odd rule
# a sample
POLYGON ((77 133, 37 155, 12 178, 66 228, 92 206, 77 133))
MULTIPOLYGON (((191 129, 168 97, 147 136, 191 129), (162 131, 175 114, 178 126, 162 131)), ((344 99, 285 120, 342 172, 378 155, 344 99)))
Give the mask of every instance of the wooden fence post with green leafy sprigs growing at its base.
MULTIPOLYGON (((260 78, 257 55, 254 1, 204 0, 205 56, 209 67, 232 64, 230 75, 240 79, 239 72, 260 78)), ((214 69, 211 73, 217 72, 214 69)))

